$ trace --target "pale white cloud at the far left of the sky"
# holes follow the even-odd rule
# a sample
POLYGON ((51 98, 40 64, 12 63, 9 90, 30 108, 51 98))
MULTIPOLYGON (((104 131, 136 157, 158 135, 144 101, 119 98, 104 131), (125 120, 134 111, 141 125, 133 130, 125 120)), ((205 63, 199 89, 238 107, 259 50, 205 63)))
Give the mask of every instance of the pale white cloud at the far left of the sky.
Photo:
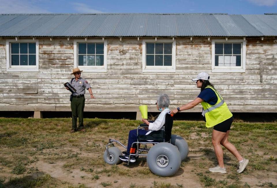
POLYGON ((50 13, 48 10, 36 6, 35 1, 0 0, 0 5, 0 14, 50 13))

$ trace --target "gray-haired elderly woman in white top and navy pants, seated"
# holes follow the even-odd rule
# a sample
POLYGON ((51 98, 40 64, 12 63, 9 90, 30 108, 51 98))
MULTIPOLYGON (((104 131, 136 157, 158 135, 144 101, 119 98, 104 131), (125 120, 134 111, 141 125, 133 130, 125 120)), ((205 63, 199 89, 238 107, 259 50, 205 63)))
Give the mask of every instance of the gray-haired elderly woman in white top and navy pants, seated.
MULTIPOLYGON (((156 102, 156 107, 158 111, 161 111, 160 115, 154 122, 149 122, 147 119, 142 119, 142 121, 148 126, 148 128, 139 129, 138 135, 148 135, 152 131, 158 131, 165 124, 165 116, 170 112, 169 110, 170 99, 167 94, 161 94, 156 102), (148 130, 147 130, 148 129, 148 130)), ((127 151, 123 151, 123 155, 120 155, 119 158, 122 161, 135 162, 137 157, 131 156, 129 160, 130 153, 135 153, 135 147, 132 147, 132 144, 137 141, 138 138, 137 129, 130 130, 128 137, 127 151)))

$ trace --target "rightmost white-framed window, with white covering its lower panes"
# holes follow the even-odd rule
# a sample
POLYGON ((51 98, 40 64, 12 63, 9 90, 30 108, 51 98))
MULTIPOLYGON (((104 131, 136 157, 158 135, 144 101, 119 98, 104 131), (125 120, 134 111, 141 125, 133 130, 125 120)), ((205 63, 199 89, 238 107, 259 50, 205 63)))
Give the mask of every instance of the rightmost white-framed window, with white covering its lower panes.
POLYGON ((212 41, 212 72, 245 72, 245 41, 212 41))

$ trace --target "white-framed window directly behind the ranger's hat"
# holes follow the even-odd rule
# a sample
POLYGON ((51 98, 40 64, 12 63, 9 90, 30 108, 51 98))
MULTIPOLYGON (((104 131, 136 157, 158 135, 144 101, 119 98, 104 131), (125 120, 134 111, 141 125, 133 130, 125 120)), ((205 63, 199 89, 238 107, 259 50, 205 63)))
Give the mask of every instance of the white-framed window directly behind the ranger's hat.
POLYGON ((102 40, 74 40, 74 67, 88 72, 106 72, 107 47, 102 40))

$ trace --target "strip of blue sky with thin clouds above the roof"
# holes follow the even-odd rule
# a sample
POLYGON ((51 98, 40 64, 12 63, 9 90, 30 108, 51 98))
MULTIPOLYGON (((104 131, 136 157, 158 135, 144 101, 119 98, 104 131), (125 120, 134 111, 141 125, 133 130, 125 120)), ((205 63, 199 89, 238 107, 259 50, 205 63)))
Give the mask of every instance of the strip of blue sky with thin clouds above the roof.
POLYGON ((7 13, 277 13, 277 0, 0 0, 7 13))

